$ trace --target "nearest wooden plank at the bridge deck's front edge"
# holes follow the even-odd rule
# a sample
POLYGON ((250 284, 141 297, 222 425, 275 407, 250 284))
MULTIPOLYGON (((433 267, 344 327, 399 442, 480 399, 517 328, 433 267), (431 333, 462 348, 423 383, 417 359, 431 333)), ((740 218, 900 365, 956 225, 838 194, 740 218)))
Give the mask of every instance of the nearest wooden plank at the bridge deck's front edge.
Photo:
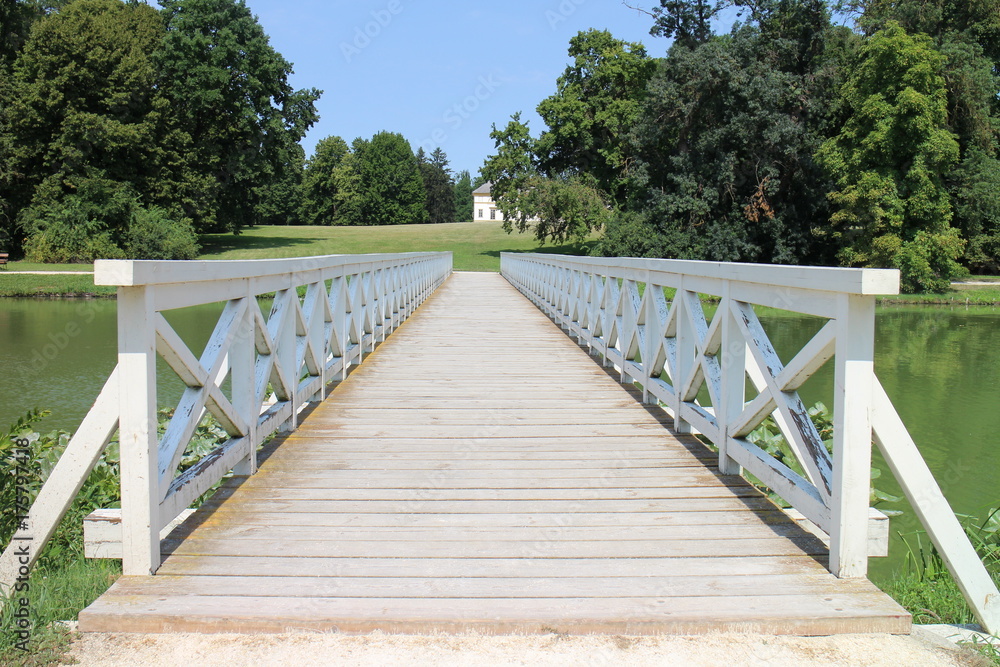
POLYGON ((659 598, 267 598, 260 596, 105 595, 80 613, 84 632, 281 632, 310 629, 347 633, 718 631, 771 634, 909 632, 909 615, 881 593, 659 598), (123 607, 119 607, 123 605, 123 607), (103 607, 109 607, 106 611, 103 607), (392 610, 387 618, 387 610, 392 610), (121 614, 124 618, 115 618, 121 614), (106 615, 107 621, 101 616, 106 615), (110 617, 110 618, 108 618, 110 617), (105 622, 107 624, 105 624, 105 622))

